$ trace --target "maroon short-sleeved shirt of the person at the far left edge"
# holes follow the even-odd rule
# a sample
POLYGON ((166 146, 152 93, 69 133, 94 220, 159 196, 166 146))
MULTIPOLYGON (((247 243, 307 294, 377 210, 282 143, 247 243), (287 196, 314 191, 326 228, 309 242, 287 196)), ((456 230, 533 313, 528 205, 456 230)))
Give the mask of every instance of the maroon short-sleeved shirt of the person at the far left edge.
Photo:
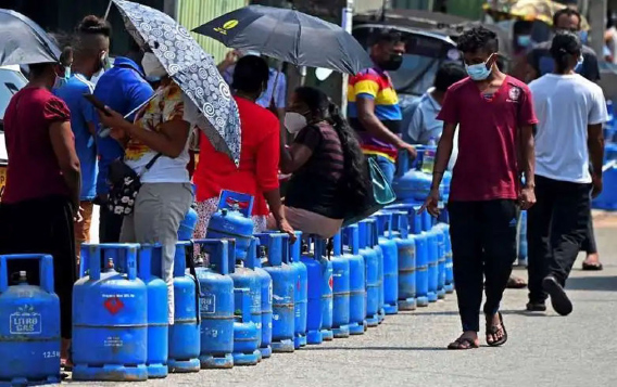
POLYGON ((64 101, 43 88, 26 87, 4 113, 9 168, 2 203, 17 203, 71 192, 49 136, 53 122, 71 119, 64 101))

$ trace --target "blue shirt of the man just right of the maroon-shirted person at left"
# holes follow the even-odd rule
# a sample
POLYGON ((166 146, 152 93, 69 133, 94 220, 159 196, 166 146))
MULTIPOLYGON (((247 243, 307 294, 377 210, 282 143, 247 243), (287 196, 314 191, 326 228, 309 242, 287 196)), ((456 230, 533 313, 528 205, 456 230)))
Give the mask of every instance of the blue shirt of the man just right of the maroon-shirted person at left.
POLYGON ((81 165, 81 201, 92 201, 97 195, 97 147, 88 122, 96 125, 95 107, 84 98, 91 94, 95 86, 83 75, 75 74, 53 93, 61 98, 71 111, 71 129, 75 136, 75 150, 81 165))

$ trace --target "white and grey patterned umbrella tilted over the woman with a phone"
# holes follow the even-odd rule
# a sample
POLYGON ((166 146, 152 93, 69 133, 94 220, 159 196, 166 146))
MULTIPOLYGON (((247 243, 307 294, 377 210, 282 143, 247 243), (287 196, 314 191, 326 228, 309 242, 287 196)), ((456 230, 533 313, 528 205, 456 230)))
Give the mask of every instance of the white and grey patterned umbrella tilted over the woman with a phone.
POLYGON ((156 55, 167 74, 204 115, 209 125, 201 125, 200 129, 214 149, 226 153, 238 166, 240 115, 214 59, 185 27, 165 13, 131 1, 112 1, 133 38, 156 55))

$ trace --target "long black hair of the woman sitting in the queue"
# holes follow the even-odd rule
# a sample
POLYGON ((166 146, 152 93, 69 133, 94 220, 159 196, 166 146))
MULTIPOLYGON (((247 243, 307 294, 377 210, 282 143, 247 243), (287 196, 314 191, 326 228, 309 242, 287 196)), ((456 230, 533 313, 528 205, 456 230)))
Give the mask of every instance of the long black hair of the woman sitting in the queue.
POLYGON ((344 157, 342 189, 349 208, 360 208, 366 199, 366 159, 353 129, 341 116, 339 107, 322 90, 312 87, 295 89, 298 99, 305 103, 313 119, 325 120, 335 128, 344 157))

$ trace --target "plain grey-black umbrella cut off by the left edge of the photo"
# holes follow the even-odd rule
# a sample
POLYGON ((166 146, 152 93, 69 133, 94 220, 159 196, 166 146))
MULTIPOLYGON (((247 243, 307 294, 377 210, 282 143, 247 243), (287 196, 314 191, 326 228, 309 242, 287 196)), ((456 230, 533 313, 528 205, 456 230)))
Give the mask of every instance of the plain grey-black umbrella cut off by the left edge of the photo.
POLYGON ((0 66, 59 62, 61 51, 38 24, 0 9, 0 66))

